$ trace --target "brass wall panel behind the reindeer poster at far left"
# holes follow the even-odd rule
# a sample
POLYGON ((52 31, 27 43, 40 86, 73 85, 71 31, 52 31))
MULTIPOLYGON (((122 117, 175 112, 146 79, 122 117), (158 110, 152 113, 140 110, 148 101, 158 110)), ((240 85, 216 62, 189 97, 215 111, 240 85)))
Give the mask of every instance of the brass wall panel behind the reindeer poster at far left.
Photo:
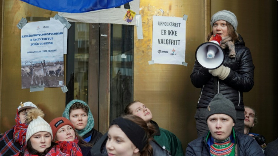
POLYGON ((4 0, 3 51, 1 58, 1 133, 15 124, 16 109, 20 102, 31 101, 45 113, 45 120, 51 121, 62 115, 65 108, 65 93, 61 88, 44 88, 44 91, 30 92, 21 89, 20 36, 16 27, 20 19, 31 17, 53 17, 57 12, 44 10, 22 1, 4 0))

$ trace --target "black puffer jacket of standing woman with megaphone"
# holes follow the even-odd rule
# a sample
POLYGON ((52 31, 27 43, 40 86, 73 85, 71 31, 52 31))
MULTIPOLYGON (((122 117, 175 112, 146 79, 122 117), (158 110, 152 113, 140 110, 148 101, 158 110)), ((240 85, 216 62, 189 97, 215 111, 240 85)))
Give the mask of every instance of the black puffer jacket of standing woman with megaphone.
POLYGON ((254 68, 250 50, 245 47, 242 37, 239 35, 235 43, 236 57, 229 57, 229 48, 224 49, 223 65, 231 68, 228 77, 220 80, 212 76, 208 69, 203 68, 195 61, 193 71, 190 75, 191 82, 196 88, 201 88, 197 108, 207 108, 212 98, 217 93, 231 100, 236 110, 244 111, 243 92, 248 92, 254 85, 254 68))

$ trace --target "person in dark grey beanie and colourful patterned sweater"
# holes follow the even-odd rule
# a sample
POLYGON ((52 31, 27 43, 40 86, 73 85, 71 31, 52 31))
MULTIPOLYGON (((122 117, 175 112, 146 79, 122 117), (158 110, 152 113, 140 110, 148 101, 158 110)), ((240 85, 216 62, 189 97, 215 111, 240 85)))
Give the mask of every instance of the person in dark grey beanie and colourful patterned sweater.
POLYGON ((186 156, 264 155, 255 139, 234 130, 236 109, 221 93, 208 105, 206 121, 209 131, 187 145, 186 156))

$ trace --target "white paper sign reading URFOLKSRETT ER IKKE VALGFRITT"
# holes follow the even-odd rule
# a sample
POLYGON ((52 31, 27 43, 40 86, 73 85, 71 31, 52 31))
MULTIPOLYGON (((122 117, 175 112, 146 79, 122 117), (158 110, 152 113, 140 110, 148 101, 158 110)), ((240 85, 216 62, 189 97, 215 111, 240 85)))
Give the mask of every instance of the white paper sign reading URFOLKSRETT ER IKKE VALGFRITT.
POLYGON ((155 64, 182 64, 185 60, 186 21, 153 16, 152 60, 155 64))

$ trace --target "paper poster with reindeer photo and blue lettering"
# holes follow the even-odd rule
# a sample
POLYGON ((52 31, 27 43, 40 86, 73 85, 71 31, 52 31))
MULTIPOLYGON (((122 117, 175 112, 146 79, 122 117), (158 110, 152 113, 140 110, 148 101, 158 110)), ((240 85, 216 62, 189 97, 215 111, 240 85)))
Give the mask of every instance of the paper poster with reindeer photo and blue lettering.
POLYGON ((64 86, 64 25, 58 20, 21 29, 21 88, 64 86))

